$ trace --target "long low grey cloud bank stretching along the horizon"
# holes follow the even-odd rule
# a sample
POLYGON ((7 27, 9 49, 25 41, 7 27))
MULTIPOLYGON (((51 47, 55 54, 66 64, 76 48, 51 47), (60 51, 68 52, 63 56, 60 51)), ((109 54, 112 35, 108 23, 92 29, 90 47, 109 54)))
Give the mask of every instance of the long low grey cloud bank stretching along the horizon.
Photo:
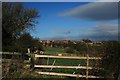
POLYGON ((90 34, 79 34, 76 36, 53 36, 47 40, 118 40, 118 24, 99 24, 94 26, 90 34))

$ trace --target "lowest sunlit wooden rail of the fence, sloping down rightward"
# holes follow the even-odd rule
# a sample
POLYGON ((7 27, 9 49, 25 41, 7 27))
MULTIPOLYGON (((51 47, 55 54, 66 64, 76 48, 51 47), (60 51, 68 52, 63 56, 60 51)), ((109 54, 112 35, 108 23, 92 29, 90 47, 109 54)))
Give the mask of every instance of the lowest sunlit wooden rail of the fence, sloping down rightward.
MULTIPOLYGON (((80 75, 80 74, 64 74, 64 73, 38 72, 38 71, 35 71, 35 73, 43 74, 43 75, 53 75, 53 76, 67 76, 67 77, 82 77, 82 78, 86 78, 86 75, 80 75)), ((104 77, 90 75, 90 76, 88 76, 88 78, 104 78, 104 77)))

